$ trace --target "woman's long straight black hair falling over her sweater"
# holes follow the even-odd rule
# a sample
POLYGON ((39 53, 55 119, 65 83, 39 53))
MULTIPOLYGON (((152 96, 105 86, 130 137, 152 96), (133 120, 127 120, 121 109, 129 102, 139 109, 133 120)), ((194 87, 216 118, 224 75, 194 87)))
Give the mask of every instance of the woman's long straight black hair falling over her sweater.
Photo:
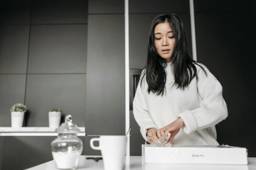
MULTIPOLYGON (((175 38, 174 50, 171 56, 171 65, 173 66, 175 80, 173 85, 177 85, 177 88, 183 88, 184 90, 185 87, 188 87, 194 77, 196 77, 197 80, 197 69, 194 64, 200 66, 207 75, 205 69, 188 54, 186 32, 180 18, 175 14, 159 15, 155 17, 151 23, 148 39, 147 62, 141 78, 143 80, 146 76, 148 93, 153 92, 157 95, 163 95, 165 92, 166 73, 164 68, 167 66, 167 63, 165 59, 159 56, 156 52, 154 31, 157 24, 164 22, 169 23, 175 38)), ((141 84, 142 81, 140 85, 141 84)))

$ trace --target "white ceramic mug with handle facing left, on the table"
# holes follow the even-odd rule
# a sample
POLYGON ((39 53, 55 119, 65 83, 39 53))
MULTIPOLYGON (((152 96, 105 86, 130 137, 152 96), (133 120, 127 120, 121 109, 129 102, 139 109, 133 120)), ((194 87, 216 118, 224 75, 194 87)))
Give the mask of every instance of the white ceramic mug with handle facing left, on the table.
POLYGON ((92 138, 90 146, 92 149, 101 150, 104 170, 122 170, 126 152, 126 136, 100 136, 92 138), (94 146, 93 142, 99 141, 99 146, 94 146))

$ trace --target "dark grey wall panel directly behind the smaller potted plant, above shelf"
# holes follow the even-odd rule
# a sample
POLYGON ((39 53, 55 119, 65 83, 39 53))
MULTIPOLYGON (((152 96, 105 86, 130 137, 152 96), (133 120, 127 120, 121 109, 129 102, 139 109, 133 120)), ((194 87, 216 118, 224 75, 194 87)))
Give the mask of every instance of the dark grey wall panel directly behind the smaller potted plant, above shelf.
POLYGON ((28 75, 26 106, 27 126, 47 127, 48 111, 62 109, 77 126, 84 127, 86 75, 28 75))

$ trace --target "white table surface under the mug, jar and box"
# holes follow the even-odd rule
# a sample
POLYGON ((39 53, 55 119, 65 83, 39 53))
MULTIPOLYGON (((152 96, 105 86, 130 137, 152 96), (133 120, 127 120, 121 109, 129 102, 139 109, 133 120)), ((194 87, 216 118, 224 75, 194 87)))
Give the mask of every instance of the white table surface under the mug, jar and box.
MULTIPOLYGON (((78 170, 104 170, 103 160, 98 162, 94 160, 86 160, 86 157, 101 157, 101 156, 80 156, 79 163, 76 169, 78 170)), ((49 161, 27 170, 58 170, 55 167, 54 161, 49 161)), ((141 156, 126 156, 124 170, 255 170, 256 158, 248 158, 248 165, 217 165, 217 164, 159 164, 159 163, 144 163, 141 156)))

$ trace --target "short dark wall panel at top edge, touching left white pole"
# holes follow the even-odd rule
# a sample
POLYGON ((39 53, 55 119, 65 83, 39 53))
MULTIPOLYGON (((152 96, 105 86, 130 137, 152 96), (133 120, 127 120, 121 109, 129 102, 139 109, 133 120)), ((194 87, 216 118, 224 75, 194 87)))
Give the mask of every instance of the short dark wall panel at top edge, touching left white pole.
POLYGON ((120 0, 89 0, 89 14, 119 14, 124 13, 124 1, 120 0))

